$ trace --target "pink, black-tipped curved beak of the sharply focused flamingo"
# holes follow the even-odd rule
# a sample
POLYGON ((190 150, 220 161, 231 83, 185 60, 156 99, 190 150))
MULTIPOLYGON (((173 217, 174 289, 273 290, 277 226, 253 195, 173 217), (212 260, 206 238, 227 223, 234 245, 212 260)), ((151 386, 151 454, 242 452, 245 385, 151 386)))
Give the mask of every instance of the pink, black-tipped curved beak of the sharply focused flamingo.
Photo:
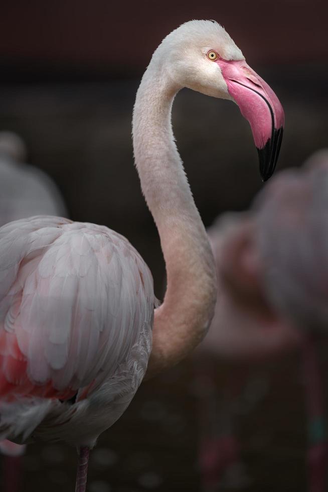
POLYGON ((218 59, 228 92, 249 121, 263 181, 272 176, 281 146, 284 112, 271 87, 242 61, 218 59))

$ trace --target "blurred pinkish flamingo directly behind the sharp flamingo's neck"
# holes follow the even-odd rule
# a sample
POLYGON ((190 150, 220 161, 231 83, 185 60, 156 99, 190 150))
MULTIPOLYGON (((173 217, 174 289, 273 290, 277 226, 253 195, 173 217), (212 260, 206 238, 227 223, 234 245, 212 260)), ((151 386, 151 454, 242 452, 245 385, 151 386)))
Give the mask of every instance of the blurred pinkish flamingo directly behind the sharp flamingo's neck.
MULTIPOLYGON (((299 336, 293 327, 263 315, 256 296, 238 296, 225 282, 225 244, 236 250, 235 234, 247 227, 251 218, 246 212, 226 212, 207 229, 216 263, 218 296, 209 332, 192 358, 197 389, 199 470, 202 490, 207 492, 217 490, 229 476, 240 487, 248 480, 236 434, 238 409, 243 401, 249 401, 247 389, 257 386, 254 367, 299 346, 299 336), (218 388, 218 362, 230 362, 224 390, 218 388)), ((237 268, 234 273, 238 275, 237 268)), ((261 391, 254 395, 254 405, 260 402, 261 391)))

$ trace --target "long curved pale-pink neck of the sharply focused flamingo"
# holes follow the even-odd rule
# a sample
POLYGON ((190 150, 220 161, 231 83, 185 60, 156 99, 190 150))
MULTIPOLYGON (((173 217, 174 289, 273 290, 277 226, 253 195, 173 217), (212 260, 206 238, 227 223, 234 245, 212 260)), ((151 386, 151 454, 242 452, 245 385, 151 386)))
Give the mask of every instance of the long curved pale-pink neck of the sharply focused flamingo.
POLYGON ((168 279, 164 302, 155 310, 147 375, 178 362, 201 341, 216 300, 212 251, 174 143, 171 110, 179 89, 150 64, 133 112, 135 163, 168 279))

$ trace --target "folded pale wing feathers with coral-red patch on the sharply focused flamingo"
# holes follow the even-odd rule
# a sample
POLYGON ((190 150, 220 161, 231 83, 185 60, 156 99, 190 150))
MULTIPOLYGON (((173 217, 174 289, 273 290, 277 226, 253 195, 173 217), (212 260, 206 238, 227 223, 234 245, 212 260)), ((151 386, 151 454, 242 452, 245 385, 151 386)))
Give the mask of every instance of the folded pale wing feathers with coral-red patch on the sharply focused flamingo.
POLYGON ((18 393, 110 378, 153 304, 146 265, 106 227, 41 216, 0 228, 0 370, 18 393))

